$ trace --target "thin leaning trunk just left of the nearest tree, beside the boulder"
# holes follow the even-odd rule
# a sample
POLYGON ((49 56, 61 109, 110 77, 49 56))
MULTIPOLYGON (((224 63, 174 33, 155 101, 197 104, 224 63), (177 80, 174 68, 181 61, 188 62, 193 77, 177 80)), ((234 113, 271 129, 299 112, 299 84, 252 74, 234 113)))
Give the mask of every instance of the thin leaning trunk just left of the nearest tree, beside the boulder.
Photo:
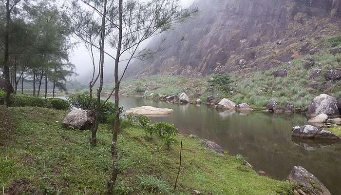
POLYGON ((96 133, 99 125, 99 110, 101 108, 101 92, 103 89, 103 69, 104 69, 104 44, 105 44, 105 20, 107 14, 107 0, 104 0, 103 15, 102 15, 102 26, 101 26, 101 51, 100 51, 100 83, 97 90, 97 101, 95 108, 95 121, 91 133, 90 143, 92 146, 96 146, 96 133))

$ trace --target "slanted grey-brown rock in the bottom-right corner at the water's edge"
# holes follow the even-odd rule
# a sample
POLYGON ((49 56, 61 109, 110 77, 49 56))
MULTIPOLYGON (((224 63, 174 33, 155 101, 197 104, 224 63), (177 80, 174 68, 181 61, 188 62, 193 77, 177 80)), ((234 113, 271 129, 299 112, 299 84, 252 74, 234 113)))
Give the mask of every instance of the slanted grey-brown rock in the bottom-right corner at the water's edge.
POLYGON ((295 166, 291 170, 288 180, 302 186, 304 191, 308 191, 307 195, 331 195, 323 183, 303 167, 295 166))

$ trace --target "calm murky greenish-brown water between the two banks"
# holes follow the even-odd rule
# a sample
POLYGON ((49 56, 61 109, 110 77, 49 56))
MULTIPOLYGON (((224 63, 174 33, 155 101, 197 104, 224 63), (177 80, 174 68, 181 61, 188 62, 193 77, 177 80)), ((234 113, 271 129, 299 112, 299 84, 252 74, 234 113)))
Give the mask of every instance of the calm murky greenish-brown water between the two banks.
POLYGON ((215 141, 230 155, 242 154, 254 166, 276 179, 285 179, 295 165, 317 176, 333 195, 341 195, 341 144, 304 142, 291 139, 295 125, 305 125, 302 115, 264 112, 241 114, 217 111, 207 105, 178 105, 142 98, 120 98, 126 110, 143 105, 172 108, 168 117, 152 121, 174 124, 183 134, 215 141))

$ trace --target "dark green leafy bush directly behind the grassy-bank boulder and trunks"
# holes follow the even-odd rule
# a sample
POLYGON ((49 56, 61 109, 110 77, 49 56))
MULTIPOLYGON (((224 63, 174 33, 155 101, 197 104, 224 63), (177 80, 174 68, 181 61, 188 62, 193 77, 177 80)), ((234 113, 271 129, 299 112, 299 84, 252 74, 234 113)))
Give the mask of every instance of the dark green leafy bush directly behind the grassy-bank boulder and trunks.
MULTIPOLYGON (((86 94, 72 94, 68 98, 70 105, 83 110, 95 110, 97 98, 91 98, 86 94)), ((104 104, 104 100, 101 100, 101 104, 104 104)), ((115 104, 107 101, 99 111, 99 121, 108 123, 110 117, 114 115, 115 104)), ((120 107, 120 113, 123 113, 123 108, 120 107)))

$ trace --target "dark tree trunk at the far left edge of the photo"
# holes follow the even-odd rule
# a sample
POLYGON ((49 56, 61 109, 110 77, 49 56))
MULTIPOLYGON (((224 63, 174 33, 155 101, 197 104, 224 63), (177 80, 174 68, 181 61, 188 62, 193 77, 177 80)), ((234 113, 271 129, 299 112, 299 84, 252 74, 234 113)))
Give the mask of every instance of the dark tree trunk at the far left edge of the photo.
POLYGON ((9 95, 11 93, 11 89, 9 86, 9 25, 11 20, 11 11, 9 6, 9 0, 6 0, 6 26, 5 26, 5 51, 4 51, 4 59, 3 59, 3 75, 7 84, 5 85, 6 96, 4 99, 4 103, 8 106, 9 95))

